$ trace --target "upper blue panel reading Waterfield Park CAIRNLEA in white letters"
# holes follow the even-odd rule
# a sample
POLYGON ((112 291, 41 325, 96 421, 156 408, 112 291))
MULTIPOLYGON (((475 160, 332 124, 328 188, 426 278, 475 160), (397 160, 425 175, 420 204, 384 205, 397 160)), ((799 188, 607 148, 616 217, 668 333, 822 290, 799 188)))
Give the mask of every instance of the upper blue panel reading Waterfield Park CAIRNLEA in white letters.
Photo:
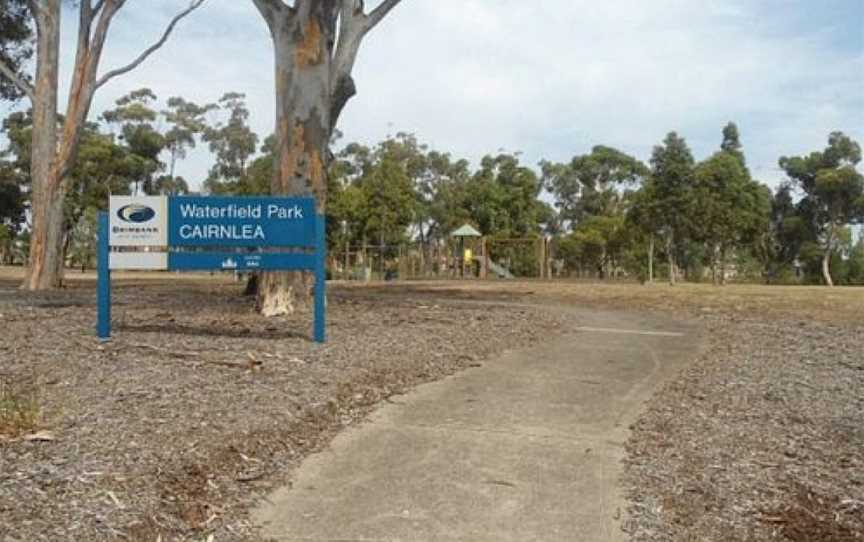
POLYGON ((171 247, 314 247, 312 198, 168 199, 171 247))

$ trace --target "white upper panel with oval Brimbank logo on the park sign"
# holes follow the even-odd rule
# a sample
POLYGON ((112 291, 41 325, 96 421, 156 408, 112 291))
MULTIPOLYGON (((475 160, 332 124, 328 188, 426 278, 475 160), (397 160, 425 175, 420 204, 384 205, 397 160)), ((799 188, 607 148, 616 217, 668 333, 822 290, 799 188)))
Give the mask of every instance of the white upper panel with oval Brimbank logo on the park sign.
POLYGON ((165 196, 111 196, 109 214, 112 247, 164 247, 168 245, 168 198, 165 196))

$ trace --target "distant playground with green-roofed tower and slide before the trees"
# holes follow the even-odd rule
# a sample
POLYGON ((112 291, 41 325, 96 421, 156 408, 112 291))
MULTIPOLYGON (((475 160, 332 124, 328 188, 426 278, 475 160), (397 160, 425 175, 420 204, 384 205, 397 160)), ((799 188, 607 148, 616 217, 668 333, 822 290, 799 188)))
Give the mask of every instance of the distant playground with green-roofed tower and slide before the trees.
POLYGON ((422 279, 552 278, 553 246, 544 237, 496 238, 459 228, 446 241, 333 247, 332 279, 354 281, 422 279))

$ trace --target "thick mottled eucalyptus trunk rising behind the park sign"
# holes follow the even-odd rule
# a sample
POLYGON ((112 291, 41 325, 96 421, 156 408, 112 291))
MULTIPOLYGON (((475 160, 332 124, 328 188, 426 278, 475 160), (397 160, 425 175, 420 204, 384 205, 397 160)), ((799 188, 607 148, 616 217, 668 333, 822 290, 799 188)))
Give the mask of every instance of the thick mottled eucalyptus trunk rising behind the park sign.
MULTIPOLYGON (((367 12, 363 0, 252 0, 270 34, 276 64, 276 160, 273 194, 327 197, 330 136, 356 92, 351 72, 363 38, 400 2, 367 12)), ((300 273, 267 273, 258 289, 262 314, 293 312, 308 303, 300 273)))

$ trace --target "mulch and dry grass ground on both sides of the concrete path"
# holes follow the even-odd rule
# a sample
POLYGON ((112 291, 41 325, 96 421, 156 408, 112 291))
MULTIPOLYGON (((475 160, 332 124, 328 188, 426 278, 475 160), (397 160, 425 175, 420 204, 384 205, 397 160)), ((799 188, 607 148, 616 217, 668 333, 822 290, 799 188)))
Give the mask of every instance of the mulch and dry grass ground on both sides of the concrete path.
POLYGON ((632 428, 634 540, 864 540, 862 288, 342 285, 319 347, 308 317, 261 320, 226 280, 126 277, 105 346, 91 282, 31 296, 0 278, 0 375, 35 385, 46 431, 0 442, 3 542, 257 540, 248 505, 299 459, 393 394, 554 332, 551 303, 708 332, 632 428))

